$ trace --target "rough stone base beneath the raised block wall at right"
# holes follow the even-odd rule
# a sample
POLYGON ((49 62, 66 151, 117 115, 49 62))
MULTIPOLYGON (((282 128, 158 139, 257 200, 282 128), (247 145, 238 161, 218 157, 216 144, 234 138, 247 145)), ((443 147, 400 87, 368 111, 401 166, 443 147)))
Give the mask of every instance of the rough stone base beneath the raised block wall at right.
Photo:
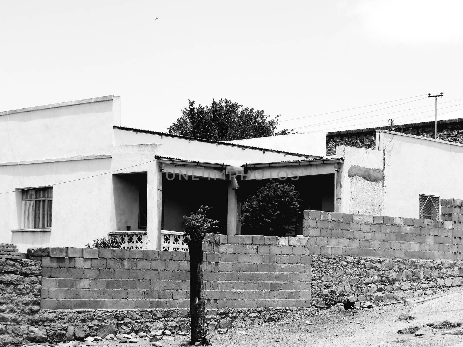
POLYGON ((463 261, 312 256, 312 304, 340 308, 461 289, 463 261))

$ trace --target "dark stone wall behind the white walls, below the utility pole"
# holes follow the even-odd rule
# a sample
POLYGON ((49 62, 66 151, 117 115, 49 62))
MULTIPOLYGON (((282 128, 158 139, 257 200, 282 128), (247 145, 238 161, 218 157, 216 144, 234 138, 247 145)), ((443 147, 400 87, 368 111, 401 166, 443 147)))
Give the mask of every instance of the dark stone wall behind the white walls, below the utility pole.
MULTIPOLYGON (((404 134, 434 137, 434 122, 398 125, 395 131, 404 134)), ((336 155, 337 146, 351 146, 375 149, 376 130, 390 130, 389 127, 334 131, 326 134, 326 155, 336 155)), ((463 143, 463 118, 438 121, 438 139, 463 143)))

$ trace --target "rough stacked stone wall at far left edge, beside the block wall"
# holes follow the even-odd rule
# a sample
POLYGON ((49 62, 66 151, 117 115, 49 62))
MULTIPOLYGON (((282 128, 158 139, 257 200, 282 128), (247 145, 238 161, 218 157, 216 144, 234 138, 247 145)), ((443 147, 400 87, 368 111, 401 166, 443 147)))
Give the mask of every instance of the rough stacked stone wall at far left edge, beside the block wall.
POLYGON ((40 309, 40 261, 24 259, 11 244, 0 247, 11 248, 0 254, 0 346, 19 345, 26 336, 40 341, 43 331, 30 328, 40 309))

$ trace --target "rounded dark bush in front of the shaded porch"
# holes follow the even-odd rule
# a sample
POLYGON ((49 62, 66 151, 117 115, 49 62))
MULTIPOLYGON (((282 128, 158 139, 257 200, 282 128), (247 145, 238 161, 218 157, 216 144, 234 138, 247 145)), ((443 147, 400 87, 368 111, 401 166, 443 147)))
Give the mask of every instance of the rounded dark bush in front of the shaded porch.
POLYGON ((270 180, 244 202, 241 230, 253 235, 285 235, 297 225, 299 203, 294 185, 270 180))

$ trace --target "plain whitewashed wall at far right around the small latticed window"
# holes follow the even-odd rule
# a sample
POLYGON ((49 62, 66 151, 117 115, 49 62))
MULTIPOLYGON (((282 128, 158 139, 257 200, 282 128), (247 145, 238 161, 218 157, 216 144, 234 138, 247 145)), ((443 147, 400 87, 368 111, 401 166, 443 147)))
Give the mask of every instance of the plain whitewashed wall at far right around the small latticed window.
POLYGON ((376 149, 385 149, 384 215, 419 218, 419 194, 463 198, 463 145, 378 130, 376 149))

